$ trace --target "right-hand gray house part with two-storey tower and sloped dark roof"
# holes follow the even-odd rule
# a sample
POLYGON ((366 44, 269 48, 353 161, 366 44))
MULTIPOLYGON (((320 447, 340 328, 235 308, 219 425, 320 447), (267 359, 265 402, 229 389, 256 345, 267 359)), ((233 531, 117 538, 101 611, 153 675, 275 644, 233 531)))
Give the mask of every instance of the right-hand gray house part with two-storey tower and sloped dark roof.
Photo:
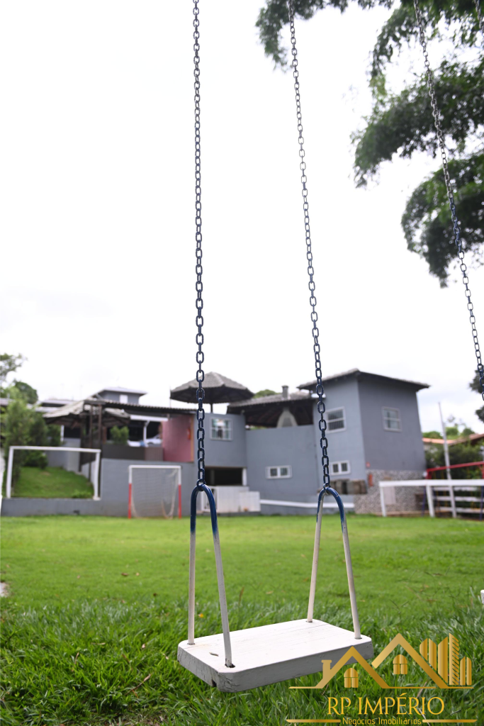
MULTIPOLYGON (((379 481, 422 478, 417 391, 428 386, 357 369, 323 383, 332 484, 357 512, 380 512, 379 481)), ((279 396, 228 408, 250 427, 245 432, 247 483, 261 492, 263 501, 314 502, 323 486, 316 381, 298 389, 300 393, 290 394, 284 387, 279 396)), ((413 492, 388 492, 394 509, 415 509, 413 492)), ((263 510, 292 512, 275 505, 263 510)))

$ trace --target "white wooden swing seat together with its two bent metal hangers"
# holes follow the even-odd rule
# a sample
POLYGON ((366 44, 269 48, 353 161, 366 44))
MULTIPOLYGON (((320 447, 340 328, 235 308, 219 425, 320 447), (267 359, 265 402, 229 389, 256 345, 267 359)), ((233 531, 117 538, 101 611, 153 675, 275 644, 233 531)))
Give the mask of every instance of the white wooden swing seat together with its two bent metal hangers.
MULTIPOLYGON (((299 678, 311 673, 321 672, 321 661, 331 661, 333 666, 351 646, 356 648, 364 658, 372 658, 372 640, 360 633, 345 510, 337 492, 328 488, 326 492, 321 492, 319 495, 307 619, 261 625, 229 632, 229 615, 223 582, 216 505, 208 486, 205 484, 200 488, 196 486, 192 493, 188 640, 179 643, 179 663, 209 685, 218 688, 218 690, 235 693, 240 690, 258 688, 263 685, 289 680, 290 678, 299 678), (204 491, 210 502, 223 632, 218 635, 205 635, 195 641, 195 523, 197 494, 199 491, 204 491), (313 620, 324 494, 332 494, 340 510, 350 603, 353 614, 353 632, 321 620, 313 620), (232 661, 232 646, 234 648, 234 661, 232 661)), ((353 661, 354 658, 351 658, 348 663, 353 661)))

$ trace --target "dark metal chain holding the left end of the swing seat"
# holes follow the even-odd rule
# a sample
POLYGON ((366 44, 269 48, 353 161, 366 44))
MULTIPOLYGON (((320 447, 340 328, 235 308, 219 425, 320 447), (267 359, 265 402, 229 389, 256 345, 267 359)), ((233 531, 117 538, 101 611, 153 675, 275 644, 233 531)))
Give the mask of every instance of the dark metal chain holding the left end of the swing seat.
POLYGON ((205 373, 203 372, 202 364, 205 359, 205 355, 202 351, 203 345, 203 299, 202 299, 202 177, 201 177, 201 163, 200 163, 200 44, 199 44, 199 25, 198 20, 198 1, 193 0, 193 39, 194 39, 194 71, 193 75, 194 90, 195 90, 195 241, 197 243, 195 255, 197 257, 197 264, 195 266, 195 272, 197 273, 197 282, 195 284, 195 290, 197 290, 197 301, 195 306, 197 308, 197 317, 195 318, 195 325, 197 325, 197 336, 195 338, 198 346, 196 361, 198 363, 197 370, 197 462, 198 462, 198 477, 197 486, 201 487, 205 484, 205 410, 203 409, 203 399, 205 397, 205 391, 203 390, 202 383, 205 379, 205 373))

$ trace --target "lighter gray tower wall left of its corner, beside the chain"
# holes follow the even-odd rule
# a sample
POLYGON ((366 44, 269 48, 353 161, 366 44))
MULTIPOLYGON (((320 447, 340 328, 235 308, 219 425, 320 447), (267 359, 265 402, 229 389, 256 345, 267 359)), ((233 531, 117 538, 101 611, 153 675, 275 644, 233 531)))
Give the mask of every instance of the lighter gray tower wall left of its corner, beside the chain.
MULTIPOLYGON (((364 452, 364 439, 361 432, 361 410, 358 397, 358 383, 355 378, 329 381, 324 386, 327 411, 332 409, 345 409, 345 429, 343 431, 327 430, 329 462, 349 461, 350 473, 344 478, 366 478, 366 462, 364 452)), ((319 413, 317 401, 314 404, 314 438, 316 442, 319 487, 323 486, 323 468, 321 466, 321 446, 319 441, 319 413)), ((327 417, 326 417, 327 418, 327 417)))

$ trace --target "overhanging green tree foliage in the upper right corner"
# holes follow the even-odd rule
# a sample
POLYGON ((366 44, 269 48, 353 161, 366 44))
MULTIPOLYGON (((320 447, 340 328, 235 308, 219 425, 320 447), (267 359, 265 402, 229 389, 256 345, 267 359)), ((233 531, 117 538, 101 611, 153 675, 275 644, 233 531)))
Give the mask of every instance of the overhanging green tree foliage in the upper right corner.
MULTIPOLYGON (((364 128, 353 135, 355 181, 365 187, 380 166, 395 156, 415 152, 438 154, 432 106, 424 75, 409 78, 392 91, 387 67, 405 47, 418 43, 418 25, 411 0, 354 0, 363 9, 380 5, 393 12, 380 30, 369 68, 372 113, 364 128)), ((311 18, 318 10, 335 7, 344 12, 349 0, 294 0, 295 15, 311 18)), ((451 41, 434 68, 435 95, 449 152, 449 172, 455 190, 464 250, 480 261, 484 242, 484 43, 473 0, 422 0, 427 38, 451 41)), ((287 0, 266 0, 257 20, 265 52, 275 64, 287 65, 282 29, 289 22, 287 0)), ((422 54, 419 47, 414 52, 422 54)), ((424 179, 411 194, 401 224, 406 243, 446 285, 457 256, 441 169, 424 179)))

